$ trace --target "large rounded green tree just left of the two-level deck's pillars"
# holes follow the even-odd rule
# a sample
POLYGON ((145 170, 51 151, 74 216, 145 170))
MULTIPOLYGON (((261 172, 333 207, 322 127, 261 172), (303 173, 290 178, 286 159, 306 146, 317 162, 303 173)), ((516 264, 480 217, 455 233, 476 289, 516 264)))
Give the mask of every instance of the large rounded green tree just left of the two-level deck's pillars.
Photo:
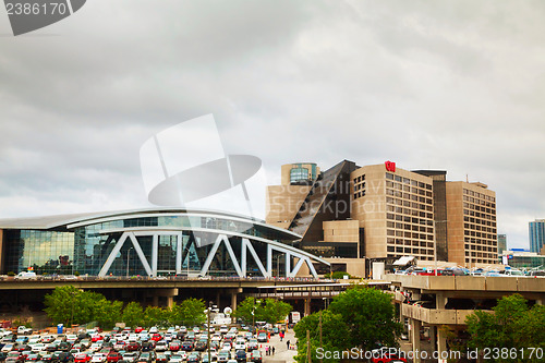
POLYGON ((378 346, 398 346, 397 337, 402 331, 402 325, 396 320, 389 294, 355 285, 335 297, 329 310, 339 314, 347 324, 350 347, 372 350, 378 346))

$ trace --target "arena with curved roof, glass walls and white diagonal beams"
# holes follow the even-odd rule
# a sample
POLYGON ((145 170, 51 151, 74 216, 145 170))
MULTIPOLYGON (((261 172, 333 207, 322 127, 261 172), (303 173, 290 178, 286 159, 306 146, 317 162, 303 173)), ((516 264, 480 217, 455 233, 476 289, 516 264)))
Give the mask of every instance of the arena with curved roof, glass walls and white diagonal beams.
POLYGON ((329 264, 300 240, 262 220, 184 208, 1 219, 0 274, 317 277, 314 263, 329 264))

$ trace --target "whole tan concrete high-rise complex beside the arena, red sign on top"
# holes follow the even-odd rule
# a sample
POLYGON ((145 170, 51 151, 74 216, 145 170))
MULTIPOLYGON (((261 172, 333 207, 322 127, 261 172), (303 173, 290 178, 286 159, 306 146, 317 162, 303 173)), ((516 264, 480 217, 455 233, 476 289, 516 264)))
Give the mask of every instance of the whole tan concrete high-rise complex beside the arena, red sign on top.
POLYGON ((284 165, 282 184, 268 186, 266 220, 301 234, 303 249, 347 262, 497 264, 496 201, 487 185, 447 181, 446 171, 348 160, 288 183, 302 166, 314 165, 284 165))

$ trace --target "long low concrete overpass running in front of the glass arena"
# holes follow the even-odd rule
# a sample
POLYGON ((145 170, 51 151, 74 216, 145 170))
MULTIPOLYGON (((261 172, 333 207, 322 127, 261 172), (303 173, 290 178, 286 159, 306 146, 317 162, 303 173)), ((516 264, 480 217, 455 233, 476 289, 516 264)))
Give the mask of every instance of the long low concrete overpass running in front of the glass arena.
POLYGON ((55 288, 74 286, 82 290, 100 292, 110 300, 138 301, 144 305, 170 306, 177 300, 197 298, 215 301, 220 306, 237 308, 237 303, 246 295, 256 293, 259 287, 275 286, 323 286, 330 280, 312 278, 239 278, 239 277, 78 277, 16 280, 3 277, 0 280, 0 306, 20 307, 28 304, 40 310, 44 297, 55 288))

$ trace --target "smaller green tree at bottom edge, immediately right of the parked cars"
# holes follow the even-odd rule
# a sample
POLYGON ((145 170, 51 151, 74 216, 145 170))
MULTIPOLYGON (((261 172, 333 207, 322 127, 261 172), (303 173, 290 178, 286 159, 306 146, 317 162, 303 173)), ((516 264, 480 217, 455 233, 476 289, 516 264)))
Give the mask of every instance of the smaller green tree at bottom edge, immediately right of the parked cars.
MULTIPOLYGON (((320 327, 319 313, 314 313, 302 318, 294 327, 295 336, 299 339, 298 355, 295 361, 307 362, 306 356, 306 330, 311 338, 312 361, 319 362, 317 353, 323 351, 340 352, 350 348, 350 330, 348 325, 342 320, 340 314, 334 314, 330 311, 323 311, 322 314, 322 344, 320 344, 320 327)), ((324 359, 324 362, 339 362, 338 359, 324 359)))

